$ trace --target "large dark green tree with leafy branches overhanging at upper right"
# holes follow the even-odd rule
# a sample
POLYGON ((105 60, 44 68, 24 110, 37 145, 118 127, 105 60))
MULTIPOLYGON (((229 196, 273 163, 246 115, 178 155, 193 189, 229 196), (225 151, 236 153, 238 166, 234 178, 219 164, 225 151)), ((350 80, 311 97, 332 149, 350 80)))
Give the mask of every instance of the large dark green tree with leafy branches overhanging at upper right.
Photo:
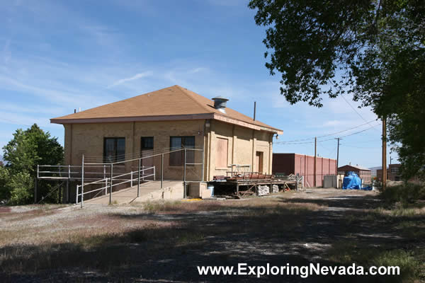
POLYGON ((423 172, 424 0, 251 0, 266 26, 266 67, 289 103, 351 94, 387 117, 405 178, 423 172), (401 144, 401 146, 398 146, 401 144))

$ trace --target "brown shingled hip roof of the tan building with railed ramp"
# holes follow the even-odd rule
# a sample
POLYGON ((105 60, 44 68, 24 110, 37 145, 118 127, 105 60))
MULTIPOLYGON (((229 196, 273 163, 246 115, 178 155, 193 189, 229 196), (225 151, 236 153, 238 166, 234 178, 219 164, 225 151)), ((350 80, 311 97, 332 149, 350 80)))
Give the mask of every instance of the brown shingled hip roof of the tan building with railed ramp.
MULTIPOLYGON (((149 117, 150 120, 164 116, 178 117, 180 115, 212 115, 212 119, 241 121, 261 127, 265 130, 273 130, 281 133, 280 129, 276 129, 263 122, 254 121, 251 117, 246 116, 231 108, 226 108, 225 113, 214 108, 214 102, 208 98, 200 96, 198 93, 189 91, 181 86, 170 86, 162 88, 159 91, 152 91, 141 96, 135 96, 114 103, 98 106, 89 110, 77 112, 71 115, 56 117, 50 120, 52 123, 65 124, 74 122, 90 122, 96 120, 113 121, 115 118, 135 118, 149 117)), ((195 117, 196 118, 196 117, 195 117)), ((194 119, 194 117, 191 117, 194 119)))

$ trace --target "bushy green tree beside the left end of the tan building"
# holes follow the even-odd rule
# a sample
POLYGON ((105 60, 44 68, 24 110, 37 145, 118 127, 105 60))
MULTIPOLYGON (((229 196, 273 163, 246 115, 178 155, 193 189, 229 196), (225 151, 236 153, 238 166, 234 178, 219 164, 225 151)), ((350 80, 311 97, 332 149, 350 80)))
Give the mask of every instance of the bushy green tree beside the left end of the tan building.
MULTIPOLYGON (((38 164, 57 165, 63 161, 63 148, 57 138, 50 137, 49 132, 36 124, 25 131, 17 129, 3 151, 8 163, 4 172, 0 171, 0 190, 2 195, 10 197, 12 204, 27 204, 33 200, 38 164)), ((52 185, 40 181, 38 187, 40 195, 47 195, 52 185)), ((47 201, 57 202, 57 197, 53 195, 47 201)))

